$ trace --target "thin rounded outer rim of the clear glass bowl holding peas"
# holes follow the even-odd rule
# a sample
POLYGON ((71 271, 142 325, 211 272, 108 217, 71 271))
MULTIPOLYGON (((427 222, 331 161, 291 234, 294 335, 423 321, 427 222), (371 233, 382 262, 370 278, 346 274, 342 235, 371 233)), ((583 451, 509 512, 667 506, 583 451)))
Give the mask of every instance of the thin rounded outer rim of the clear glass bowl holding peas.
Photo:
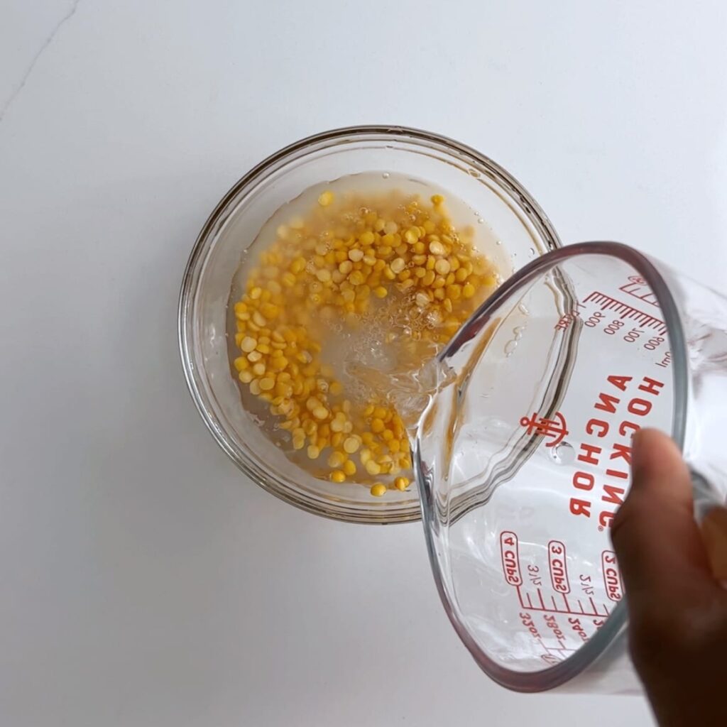
MULTIPOLYGON (((193 360, 194 337, 191 326, 191 313, 193 312, 194 302, 193 293, 196 289, 196 280, 201 273, 201 268, 204 267, 204 262, 209 253, 209 247, 212 244, 212 235, 210 233, 217 227, 222 213, 225 212, 230 202, 238 196, 241 190, 244 190, 246 186, 254 183, 258 177, 269 169, 284 162, 286 158, 296 158, 296 155, 306 148, 320 148, 321 145, 334 145, 336 142, 342 142, 343 140, 348 142, 371 138, 375 140, 377 137, 381 140, 386 140, 386 137, 390 137, 392 140, 409 140, 414 143, 419 142, 422 145, 437 145, 442 150, 459 156, 462 161, 470 161, 475 166, 486 169, 489 172, 488 176, 504 187, 513 196, 515 201, 517 201, 521 212, 526 214, 529 222, 534 225, 539 235, 546 241, 548 248, 557 249, 562 246, 561 239, 555 231, 552 222, 550 222, 541 206, 526 188, 510 172, 507 172, 497 162, 478 152, 478 150, 455 141, 450 137, 443 136, 442 134, 435 134, 434 132, 427 132, 410 126, 370 124, 330 129, 329 131, 302 138, 270 154, 270 156, 253 166, 249 172, 235 182, 228 192, 222 196, 217 205, 214 206, 214 209, 209 214, 209 217, 207 217, 206 222, 196 238, 185 265, 177 307, 177 338, 182 371, 184 372, 187 387, 197 411, 209 430, 209 433, 212 434, 220 448, 225 451, 225 454, 232 459, 238 469, 247 477, 262 487, 262 489, 278 497, 278 499, 288 502, 290 505, 294 505, 308 513, 313 513, 314 515, 321 515, 332 520, 350 523, 392 524, 421 520, 422 514, 419 502, 417 501, 416 507, 401 508, 400 511, 382 508, 380 512, 377 512, 376 508, 373 507, 366 510, 360 507, 345 505, 344 503, 333 507, 333 503, 313 499, 302 492, 289 489, 282 483, 278 487, 273 486, 258 471, 259 468, 257 465, 252 461, 248 461, 244 452, 240 452, 230 446, 227 438, 225 438, 222 427, 217 421, 217 417, 205 405, 206 395, 201 391, 198 382, 198 376, 200 374, 193 360)), ((476 312, 474 315, 476 315, 476 312)), ((466 326, 467 323, 465 322, 464 325, 466 326)))

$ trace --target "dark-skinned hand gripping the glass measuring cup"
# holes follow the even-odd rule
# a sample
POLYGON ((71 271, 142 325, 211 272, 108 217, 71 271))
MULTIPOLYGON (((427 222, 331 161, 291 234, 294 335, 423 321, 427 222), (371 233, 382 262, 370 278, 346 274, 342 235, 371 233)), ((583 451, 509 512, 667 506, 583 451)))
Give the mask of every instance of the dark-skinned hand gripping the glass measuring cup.
MULTIPOLYGON (((677 446, 655 430, 635 436, 632 467, 611 538, 633 662, 660 727, 726 727, 727 590, 694 520, 687 467, 677 446)), ((719 530, 727 510, 712 515, 719 530)))

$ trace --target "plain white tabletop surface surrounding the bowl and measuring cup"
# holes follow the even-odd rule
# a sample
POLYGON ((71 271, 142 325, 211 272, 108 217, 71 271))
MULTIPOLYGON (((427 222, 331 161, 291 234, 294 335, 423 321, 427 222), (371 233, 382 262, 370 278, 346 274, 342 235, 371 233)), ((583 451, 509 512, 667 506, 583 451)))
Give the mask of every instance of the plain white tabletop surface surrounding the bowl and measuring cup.
POLYGON ((640 698, 490 683, 419 524, 244 481, 175 307, 241 174, 366 122, 479 148, 565 242, 724 286, 726 37, 720 0, 0 0, 0 723, 651 724, 640 698))

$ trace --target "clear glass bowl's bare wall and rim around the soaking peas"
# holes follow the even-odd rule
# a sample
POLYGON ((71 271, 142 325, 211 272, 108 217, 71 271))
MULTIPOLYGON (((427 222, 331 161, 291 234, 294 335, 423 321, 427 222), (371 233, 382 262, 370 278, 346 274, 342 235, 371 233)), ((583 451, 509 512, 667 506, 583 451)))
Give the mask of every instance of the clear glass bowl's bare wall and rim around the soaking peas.
POLYGON ((553 225, 519 182, 459 142, 403 126, 356 126, 316 134, 258 164, 209 216, 182 281, 180 352, 202 419, 249 478, 310 513, 349 522, 401 523, 420 517, 414 486, 374 498, 368 486, 332 483, 303 472, 243 408, 228 353, 230 287, 244 249, 273 212, 303 190, 359 172, 429 181, 476 210, 502 241, 500 252, 508 261, 499 271, 503 277, 535 255, 561 246, 553 225))

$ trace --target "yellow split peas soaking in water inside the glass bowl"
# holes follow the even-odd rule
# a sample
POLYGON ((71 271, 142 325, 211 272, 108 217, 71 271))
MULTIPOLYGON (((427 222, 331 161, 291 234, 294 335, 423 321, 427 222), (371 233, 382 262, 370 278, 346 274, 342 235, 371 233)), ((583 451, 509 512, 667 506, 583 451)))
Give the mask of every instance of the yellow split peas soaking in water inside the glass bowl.
POLYGON ((441 195, 337 198, 326 190, 313 208, 280 225, 246 273, 234 305, 233 365, 289 456, 302 456, 318 477, 365 483, 381 497, 409 486, 409 440, 386 391, 348 387, 332 365, 347 348, 342 336, 379 330, 389 360, 415 371, 497 276, 475 250, 473 228, 455 228, 441 195))

